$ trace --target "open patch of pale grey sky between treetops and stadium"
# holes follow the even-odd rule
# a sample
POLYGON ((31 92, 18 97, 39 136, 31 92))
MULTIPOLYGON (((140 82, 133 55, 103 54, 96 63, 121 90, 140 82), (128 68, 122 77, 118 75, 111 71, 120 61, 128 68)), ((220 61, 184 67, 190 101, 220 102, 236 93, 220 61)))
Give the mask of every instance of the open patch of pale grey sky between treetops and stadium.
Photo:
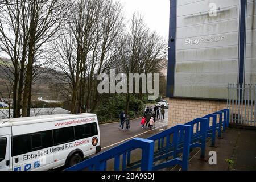
POLYGON ((145 22, 151 30, 156 30, 164 39, 168 40, 169 30, 169 0, 119 0, 123 3, 126 19, 129 20, 134 11, 144 16, 145 22))

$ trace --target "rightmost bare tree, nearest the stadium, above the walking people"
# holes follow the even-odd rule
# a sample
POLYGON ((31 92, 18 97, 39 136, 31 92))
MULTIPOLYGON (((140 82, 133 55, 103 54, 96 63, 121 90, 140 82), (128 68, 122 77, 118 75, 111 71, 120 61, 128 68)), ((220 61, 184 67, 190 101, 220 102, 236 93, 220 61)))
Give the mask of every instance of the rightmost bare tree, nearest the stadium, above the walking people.
MULTIPOLYGON (((164 61, 164 48, 166 44, 163 39, 151 32, 142 16, 134 13, 131 17, 130 30, 123 35, 119 46, 119 71, 126 73, 158 73, 167 65, 164 61)), ((129 84, 127 84, 129 85, 129 84)), ((125 111, 128 113, 130 104, 130 93, 126 94, 125 111)))

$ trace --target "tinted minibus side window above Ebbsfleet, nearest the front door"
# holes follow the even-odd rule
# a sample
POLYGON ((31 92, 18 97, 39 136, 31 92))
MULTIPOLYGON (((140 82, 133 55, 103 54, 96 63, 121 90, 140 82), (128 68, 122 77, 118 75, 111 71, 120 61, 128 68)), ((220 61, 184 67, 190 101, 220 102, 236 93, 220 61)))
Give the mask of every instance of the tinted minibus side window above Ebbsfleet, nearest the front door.
POLYGON ((31 152, 30 134, 13 137, 13 156, 18 156, 31 152))

